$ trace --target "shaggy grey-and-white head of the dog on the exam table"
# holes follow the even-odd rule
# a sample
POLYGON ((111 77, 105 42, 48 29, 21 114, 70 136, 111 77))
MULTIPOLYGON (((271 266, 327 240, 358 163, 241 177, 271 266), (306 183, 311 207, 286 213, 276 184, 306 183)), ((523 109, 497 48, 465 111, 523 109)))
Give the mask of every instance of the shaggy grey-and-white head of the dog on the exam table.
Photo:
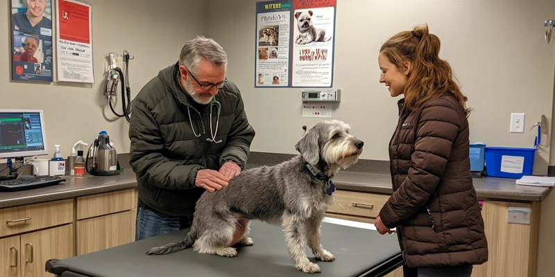
POLYGON ((311 127, 295 149, 313 166, 323 161, 332 167, 348 168, 359 161, 364 142, 349 134, 350 125, 341 120, 323 120, 311 127))

